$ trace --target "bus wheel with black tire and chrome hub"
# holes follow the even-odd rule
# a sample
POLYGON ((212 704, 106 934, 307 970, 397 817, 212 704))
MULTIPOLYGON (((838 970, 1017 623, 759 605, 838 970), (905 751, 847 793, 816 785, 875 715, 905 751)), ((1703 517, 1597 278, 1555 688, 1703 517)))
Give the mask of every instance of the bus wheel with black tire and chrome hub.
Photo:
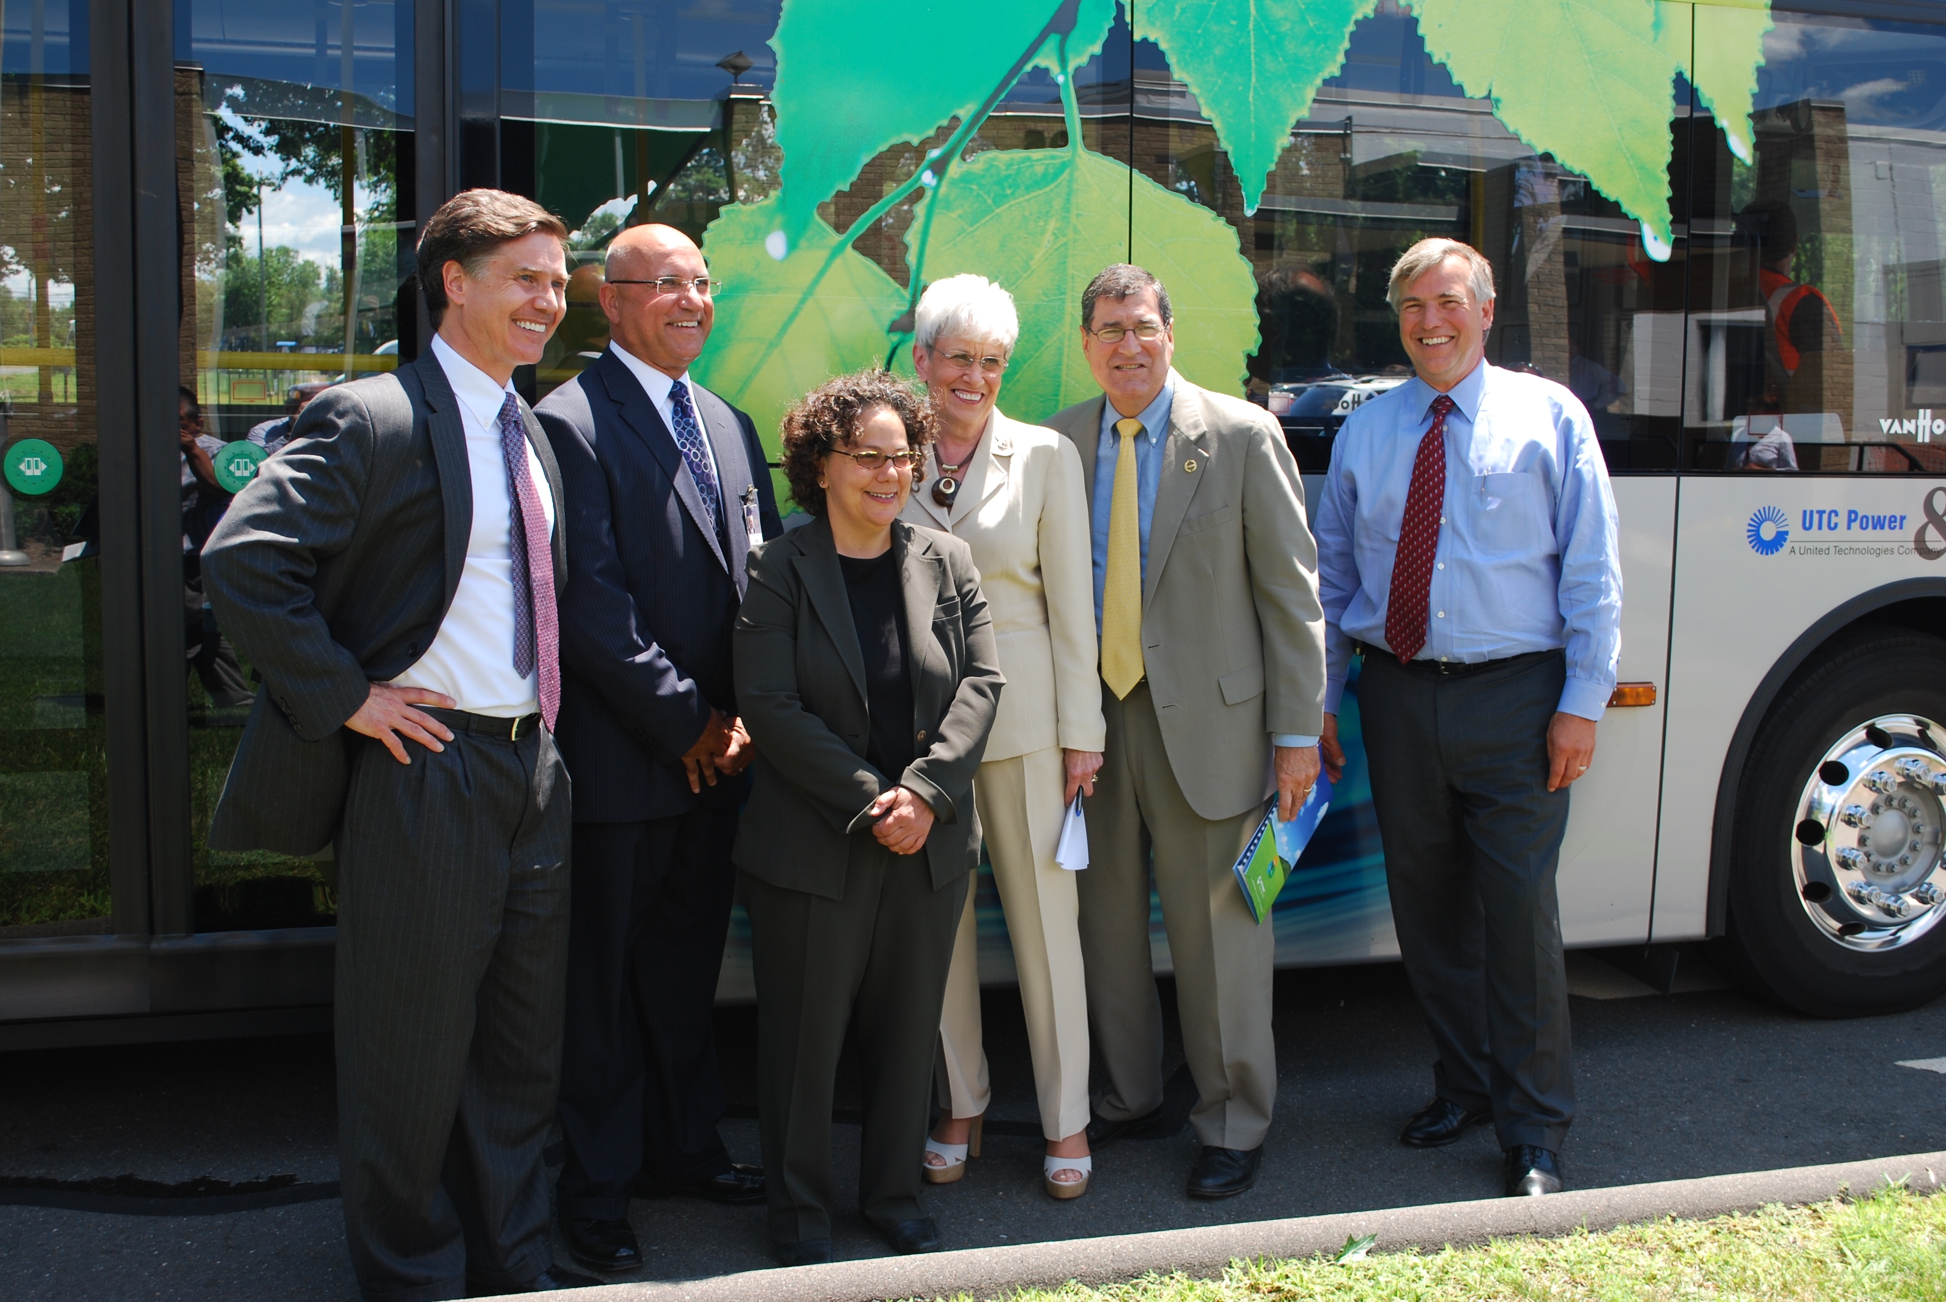
POLYGON ((1748 985, 1820 1018, 1946 991, 1946 640, 1845 634, 1800 669, 1738 788, 1726 948, 1748 985))

